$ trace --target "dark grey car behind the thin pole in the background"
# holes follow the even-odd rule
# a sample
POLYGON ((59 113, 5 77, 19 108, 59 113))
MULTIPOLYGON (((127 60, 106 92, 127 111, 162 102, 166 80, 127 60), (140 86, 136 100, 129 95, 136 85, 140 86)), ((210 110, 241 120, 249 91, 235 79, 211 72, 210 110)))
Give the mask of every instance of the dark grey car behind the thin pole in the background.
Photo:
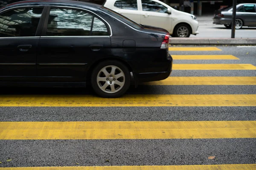
MULTIPOLYGON (((226 7, 215 11, 213 23, 231 28, 233 7, 226 7)), ((236 29, 243 26, 256 26, 256 4, 243 3, 236 6, 236 29)))

